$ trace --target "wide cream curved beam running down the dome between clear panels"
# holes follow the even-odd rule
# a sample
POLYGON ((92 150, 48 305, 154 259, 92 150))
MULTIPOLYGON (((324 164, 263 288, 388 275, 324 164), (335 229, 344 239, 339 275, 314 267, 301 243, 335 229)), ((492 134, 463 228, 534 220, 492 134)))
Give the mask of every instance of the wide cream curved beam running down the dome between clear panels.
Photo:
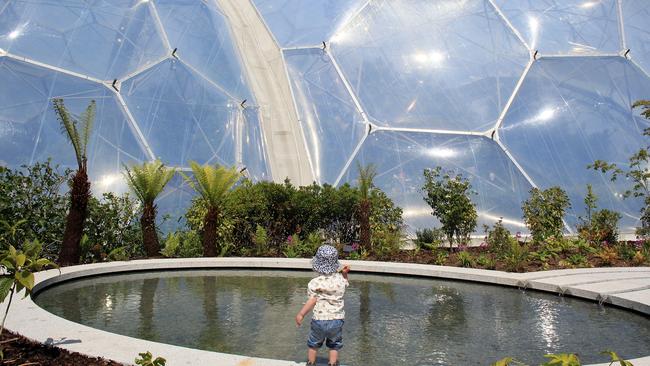
POLYGON ((280 182, 288 177, 297 185, 311 184, 314 174, 280 47, 250 0, 215 2, 233 29, 233 40, 260 106, 273 180, 280 182))

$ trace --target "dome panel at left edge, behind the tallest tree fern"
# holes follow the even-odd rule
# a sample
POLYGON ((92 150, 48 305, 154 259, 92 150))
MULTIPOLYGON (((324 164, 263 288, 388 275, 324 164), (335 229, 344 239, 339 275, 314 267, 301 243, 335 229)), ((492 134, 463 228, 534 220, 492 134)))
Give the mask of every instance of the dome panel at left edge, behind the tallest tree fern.
POLYGON ((16 168, 52 158, 76 169, 74 149, 61 131, 52 98, 63 98, 73 116, 96 101, 87 151, 92 190, 125 188, 116 177, 122 165, 141 162, 145 155, 113 93, 103 85, 8 58, 0 59, 1 164, 16 168))

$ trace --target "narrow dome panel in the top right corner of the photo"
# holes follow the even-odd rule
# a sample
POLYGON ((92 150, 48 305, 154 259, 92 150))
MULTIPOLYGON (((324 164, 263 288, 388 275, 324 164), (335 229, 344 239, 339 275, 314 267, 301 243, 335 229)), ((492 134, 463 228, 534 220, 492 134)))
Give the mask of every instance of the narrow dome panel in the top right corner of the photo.
POLYGON ((622 8, 626 47, 631 58, 650 75, 650 2, 625 0, 622 8))

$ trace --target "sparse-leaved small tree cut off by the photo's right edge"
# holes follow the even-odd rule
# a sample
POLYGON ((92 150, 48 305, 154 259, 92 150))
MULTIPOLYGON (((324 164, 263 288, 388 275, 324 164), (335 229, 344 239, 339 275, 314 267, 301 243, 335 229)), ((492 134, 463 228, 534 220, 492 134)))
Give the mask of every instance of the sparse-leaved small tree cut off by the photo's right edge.
MULTIPOLYGON (((650 100, 639 100, 632 104, 632 108, 641 108, 641 114, 650 119, 650 100)), ((650 128, 643 130, 644 136, 650 136, 650 128)), ((601 173, 609 172, 611 180, 616 181, 619 176, 632 180, 632 188, 623 192, 623 198, 639 197, 643 198, 644 206, 641 209, 641 227, 637 228, 637 234, 642 236, 650 235, 650 146, 639 149, 628 159, 629 166, 627 169, 620 168, 615 163, 608 163, 603 160, 596 160, 593 164, 587 166, 589 169, 600 171, 601 173)))

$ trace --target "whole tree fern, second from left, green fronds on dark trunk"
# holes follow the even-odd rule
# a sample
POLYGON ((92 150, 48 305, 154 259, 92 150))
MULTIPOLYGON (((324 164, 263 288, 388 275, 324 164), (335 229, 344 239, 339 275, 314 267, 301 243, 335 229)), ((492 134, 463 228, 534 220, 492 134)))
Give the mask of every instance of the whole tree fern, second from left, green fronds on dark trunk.
POLYGON ((142 242, 147 252, 147 257, 159 255, 160 244, 158 243, 158 233, 156 233, 156 210, 154 204, 156 197, 165 189, 176 171, 166 168, 160 160, 134 166, 129 170, 124 167, 124 177, 129 188, 135 193, 142 203, 142 216, 140 217, 140 227, 142 228, 142 242))

